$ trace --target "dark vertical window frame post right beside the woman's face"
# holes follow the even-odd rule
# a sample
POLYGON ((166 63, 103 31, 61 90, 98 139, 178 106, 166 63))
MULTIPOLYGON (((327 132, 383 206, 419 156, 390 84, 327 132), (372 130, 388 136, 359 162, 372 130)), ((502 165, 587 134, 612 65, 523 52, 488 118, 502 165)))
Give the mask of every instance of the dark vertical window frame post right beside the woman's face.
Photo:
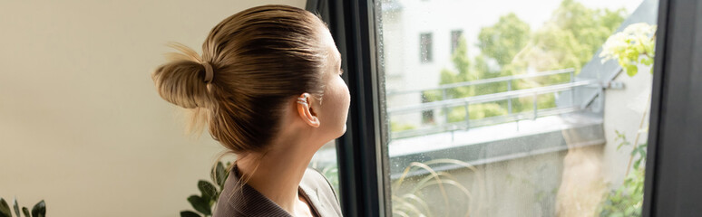
MULTIPOLYGON (((373 1, 307 0, 307 10, 320 14, 342 56, 342 75, 351 93, 346 134, 336 139, 339 168, 339 196, 344 216, 391 216, 390 177, 387 149, 376 144, 386 141, 380 127, 387 127, 385 90, 380 84, 375 50, 375 5, 373 1), (381 125, 382 124, 382 125, 381 125)), ((377 3, 378 5, 380 3, 377 3)), ((380 69, 382 70, 382 69, 380 69)), ((386 132, 386 130, 385 130, 386 132)))

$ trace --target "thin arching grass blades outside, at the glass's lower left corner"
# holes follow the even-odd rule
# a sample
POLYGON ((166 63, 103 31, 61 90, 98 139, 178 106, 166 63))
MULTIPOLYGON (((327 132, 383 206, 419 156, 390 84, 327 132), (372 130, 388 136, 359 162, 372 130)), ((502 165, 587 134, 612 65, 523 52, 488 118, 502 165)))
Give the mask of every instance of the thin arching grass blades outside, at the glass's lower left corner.
MULTIPOLYGON (((393 183, 393 191, 391 195, 393 203, 393 214, 398 216, 433 217, 437 209, 444 208, 443 211, 447 215, 452 205, 455 205, 456 207, 465 207, 465 216, 470 216, 470 206, 467 203, 463 204, 463 202, 471 202, 474 196, 471 193, 471 191, 469 191, 468 188, 461 184, 458 181, 458 179, 456 179, 456 177, 454 177, 453 175, 444 171, 437 172, 431 167, 431 165, 459 165, 460 167, 470 169, 471 171, 473 171, 474 175, 476 175, 478 183, 483 184, 482 175, 478 173, 477 168, 463 161, 453 159, 437 159, 427 161, 424 163, 413 162, 407 167, 405 167, 405 171, 403 172, 403 174, 393 183), (413 184, 406 184, 405 180, 410 179, 408 175, 418 170, 424 170, 428 173, 428 175, 418 176, 415 178, 416 182, 413 182, 413 184), (443 207, 432 206, 429 203, 427 203, 428 201, 424 197, 422 191, 432 186, 436 186, 439 188, 439 192, 441 193, 444 202, 443 207), (449 200, 446 188, 451 186, 457 188, 460 191, 459 193, 465 195, 466 200, 449 200)), ((481 186, 480 189, 484 189, 484 186, 481 186)), ((479 209, 480 203, 478 203, 478 210, 479 209)))

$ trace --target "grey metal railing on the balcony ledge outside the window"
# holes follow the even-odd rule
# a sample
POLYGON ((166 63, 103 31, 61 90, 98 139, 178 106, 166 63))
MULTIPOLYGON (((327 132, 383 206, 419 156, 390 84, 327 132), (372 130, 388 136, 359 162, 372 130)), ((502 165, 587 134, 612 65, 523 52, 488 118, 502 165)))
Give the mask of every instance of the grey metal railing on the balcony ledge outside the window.
POLYGON ((403 95, 403 94, 419 94, 421 96, 421 94, 424 91, 437 91, 437 90, 441 91, 441 93, 442 93, 442 100, 424 102, 421 104, 408 105, 408 106, 387 109, 387 116, 389 118, 391 118, 391 120, 392 120, 394 115, 402 115, 402 114, 409 114, 409 113, 420 113, 421 114, 424 111, 434 110, 434 109, 442 109, 444 111, 444 118, 445 118, 444 123, 439 123, 439 124, 436 124, 433 126, 424 126, 424 127, 417 127, 414 129, 391 132, 391 137, 392 138, 416 137, 416 136, 442 133, 442 132, 447 132, 447 131, 453 132, 456 130, 467 130, 469 127, 483 127, 483 126, 495 125, 495 124, 500 124, 500 123, 518 121, 518 120, 522 120, 522 119, 529 119, 529 118, 536 119, 536 118, 540 118, 540 117, 565 114, 565 113, 575 112, 575 111, 578 111, 580 109, 585 109, 586 105, 576 105, 574 100, 573 100, 573 99, 575 99, 575 95, 574 95, 575 88, 593 87, 593 86, 600 87, 600 84, 597 80, 575 81, 575 74, 574 73, 575 73, 575 71, 573 69, 564 69, 564 70, 558 70, 558 71, 545 71, 545 72, 533 73, 533 74, 512 75, 512 76, 505 76, 505 77, 485 79, 485 80, 471 80, 471 81, 465 81, 465 82, 459 82, 459 83, 445 84, 445 85, 441 85, 439 87, 432 88, 432 89, 389 91, 387 93, 388 97, 403 95), (565 74, 565 73, 570 74, 570 81, 567 83, 560 83, 560 84, 554 84, 554 85, 531 88, 531 89, 512 90, 512 82, 514 80, 523 80, 523 79, 536 78, 536 77, 545 77, 545 76, 552 76, 552 75, 565 74), (447 99, 447 95, 448 95, 447 90, 452 90, 452 89, 462 88, 462 87, 470 87, 470 86, 475 86, 475 85, 497 83, 497 82, 506 82, 507 83, 507 90, 503 91, 503 92, 496 92, 496 93, 490 93, 490 94, 484 94, 484 95, 478 95, 478 96, 471 96, 471 97, 466 97, 466 98, 447 99), (537 99, 538 99, 539 95, 556 93, 556 92, 561 92, 561 91, 565 91, 565 90, 570 90, 570 106, 561 106, 558 108, 547 108, 547 109, 539 109, 538 108, 538 100, 537 99), (524 112, 516 112, 516 113, 512 112, 512 99, 519 99, 519 98, 524 98, 524 97, 533 98, 533 104, 532 104, 533 109, 531 109, 529 111, 524 111, 524 112), (483 103, 489 103, 489 102, 497 102, 497 101, 502 101, 502 100, 507 101, 507 115, 495 116, 495 117, 489 117, 489 118, 479 118, 479 119, 471 119, 470 118, 470 109, 469 109, 470 105, 483 104, 483 103), (462 106, 465 109, 465 120, 461 121, 461 122, 450 122, 449 115, 448 115, 449 114, 448 109, 455 108, 455 107, 462 107, 462 106))

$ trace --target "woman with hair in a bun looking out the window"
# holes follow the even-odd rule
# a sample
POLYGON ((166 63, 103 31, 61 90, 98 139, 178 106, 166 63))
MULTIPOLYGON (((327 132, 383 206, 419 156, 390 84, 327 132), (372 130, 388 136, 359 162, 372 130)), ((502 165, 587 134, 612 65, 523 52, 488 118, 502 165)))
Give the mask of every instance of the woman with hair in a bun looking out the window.
POLYGON ((264 5, 229 16, 202 45, 152 74, 161 98, 194 111, 237 155, 215 207, 224 216, 341 216, 325 177, 307 169, 346 131, 349 93, 341 57, 314 14, 264 5))

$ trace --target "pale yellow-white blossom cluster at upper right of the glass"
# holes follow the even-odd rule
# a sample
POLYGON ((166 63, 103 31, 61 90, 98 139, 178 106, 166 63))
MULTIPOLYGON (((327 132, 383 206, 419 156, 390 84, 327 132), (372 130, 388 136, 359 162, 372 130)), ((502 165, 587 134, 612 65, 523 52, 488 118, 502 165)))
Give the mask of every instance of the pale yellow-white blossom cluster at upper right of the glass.
MULTIPOLYGON (((656 32, 656 25, 646 23, 630 24, 621 33, 609 37, 602 45, 600 57, 602 62, 609 60, 619 61, 619 65, 627 71, 629 76, 639 72, 639 64, 650 66, 655 55, 655 38, 651 37, 656 32)), ((651 67, 653 73, 653 67, 651 67)))

